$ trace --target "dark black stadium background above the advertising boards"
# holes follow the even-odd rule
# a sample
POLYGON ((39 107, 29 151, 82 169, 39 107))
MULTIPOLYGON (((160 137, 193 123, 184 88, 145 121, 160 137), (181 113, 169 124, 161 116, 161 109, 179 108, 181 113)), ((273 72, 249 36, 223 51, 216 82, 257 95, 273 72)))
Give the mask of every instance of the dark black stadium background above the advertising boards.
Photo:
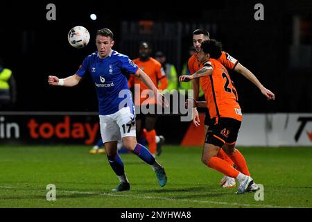
MULTIPOLYGON (((192 27, 205 24, 211 27, 211 38, 223 42, 225 51, 275 92, 276 100, 268 102, 252 83, 234 74, 243 112, 312 112, 312 1, 7 1, 0 4, 0 56, 6 67, 12 69, 17 82, 17 103, 9 110, 97 111, 95 89, 89 77, 77 87, 57 89, 48 85, 47 76, 64 78, 74 74, 85 56, 96 51, 94 33, 99 28, 114 32, 116 51, 136 58, 140 37, 129 47, 122 24, 152 20, 157 24, 179 23, 184 31, 189 30, 176 43, 179 55, 168 51, 166 44, 154 49, 154 52, 165 51, 179 73, 188 59, 192 27), (55 3, 56 21, 46 20, 48 3, 55 3), (256 3, 263 3, 264 21, 254 19, 256 3), (89 18, 91 13, 97 15, 96 21, 89 18), (290 53, 296 15, 302 17, 300 46, 310 49, 308 56, 298 54, 302 56, 299 62, 293 62, 294 55, 290 53), (74 49, 67 42, 67 33, 73 26, 85 26, 91 33, 85 49, 74 49)), ((152 32, 146 39, 161 35, 152 32)), ((163 118, 169 122, 172 119, 163 118)), ((162 128, 159 124, 157 128, 162 128)), ((186 127, 184 123, 182 130, 186 127)), ((167 135, 179 137, 181 129, 170 130, 167 135)))

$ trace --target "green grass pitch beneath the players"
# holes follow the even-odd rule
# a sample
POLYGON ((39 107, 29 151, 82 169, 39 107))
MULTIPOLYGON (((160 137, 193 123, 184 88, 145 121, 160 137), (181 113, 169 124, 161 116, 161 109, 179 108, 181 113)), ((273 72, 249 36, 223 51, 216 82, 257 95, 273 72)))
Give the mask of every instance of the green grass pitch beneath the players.
POLYGON ((200 148, 164 146, 157 159, 168 183, 159 187, 150 166, 121 154, 130 191, 113 193, 119 180, 106 155, 89 146, 0 146, 0 207, 312 207, 312 147, 239 148, 264 200, 218 185, 222 175, 200 161, 200 148), (56 200, 46 200, 46 185, 56 200))

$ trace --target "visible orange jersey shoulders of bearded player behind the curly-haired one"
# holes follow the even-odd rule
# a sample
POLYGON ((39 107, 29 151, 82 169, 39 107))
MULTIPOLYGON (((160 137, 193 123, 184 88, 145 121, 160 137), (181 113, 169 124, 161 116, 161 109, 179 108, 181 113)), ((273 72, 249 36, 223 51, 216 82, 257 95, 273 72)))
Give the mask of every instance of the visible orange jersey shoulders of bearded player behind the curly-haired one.
MULTIPOLYGON (((200 69, 200 65, 198 64, 198 60, 196 58, 197 53, 195 53, 191 58, 189 58, 189 71, 191 74, 194 74, 196 71, 200 69)), ((221 62, 222 65, 224 65, 228 69, 234 69, 239 63, 236 59, 234 59, 232 56, 229 56, 228 53, 225 51, 222 52, 220 58, 218 58, 218 61, 221 62)))

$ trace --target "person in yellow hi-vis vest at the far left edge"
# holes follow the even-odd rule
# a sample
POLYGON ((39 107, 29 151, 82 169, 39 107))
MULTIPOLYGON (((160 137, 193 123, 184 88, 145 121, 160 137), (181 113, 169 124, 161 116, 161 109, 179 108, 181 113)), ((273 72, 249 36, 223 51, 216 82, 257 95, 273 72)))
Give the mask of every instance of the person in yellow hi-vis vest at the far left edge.
POLYGON ((6 110, 16 102, 15 78, 10 69, 5 68, 0 58, 0 110, 6 110))

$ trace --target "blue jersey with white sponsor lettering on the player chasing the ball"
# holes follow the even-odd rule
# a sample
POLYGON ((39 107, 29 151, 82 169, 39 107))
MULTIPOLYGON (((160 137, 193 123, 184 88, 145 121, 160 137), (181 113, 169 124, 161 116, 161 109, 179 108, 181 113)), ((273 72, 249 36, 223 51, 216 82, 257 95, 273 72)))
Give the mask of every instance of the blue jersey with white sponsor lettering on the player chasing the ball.
POLYGON ((139 67, 128 56, 112 50, 106 58, 100 58, 98 52, 87 56, 77 74, 83 77, 89 71, 98 95, 98 110, 101 115, 107 115, 119 111, 119 104, 133 110, 132 95, 124 72, 135 74, 137 69, 139 67), (128 90, 119 96, 122 89, 128 90))

